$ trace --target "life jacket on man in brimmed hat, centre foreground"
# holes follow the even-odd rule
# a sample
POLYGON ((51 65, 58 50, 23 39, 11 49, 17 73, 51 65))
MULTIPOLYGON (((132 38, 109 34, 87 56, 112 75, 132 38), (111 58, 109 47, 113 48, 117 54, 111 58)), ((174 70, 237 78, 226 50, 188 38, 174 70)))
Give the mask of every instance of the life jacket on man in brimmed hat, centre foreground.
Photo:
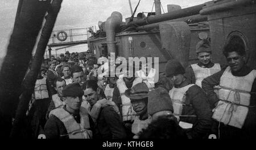
POLYGON ((134 118, 133 125, 131 125, 131 132, 133 134, 138 134, 142 131, 143 128, 147 128, 148 124, 151 122, 151 117, 148 115, 148 118, 144 121, 139 119, 139 115, 136 115, 134 118))

